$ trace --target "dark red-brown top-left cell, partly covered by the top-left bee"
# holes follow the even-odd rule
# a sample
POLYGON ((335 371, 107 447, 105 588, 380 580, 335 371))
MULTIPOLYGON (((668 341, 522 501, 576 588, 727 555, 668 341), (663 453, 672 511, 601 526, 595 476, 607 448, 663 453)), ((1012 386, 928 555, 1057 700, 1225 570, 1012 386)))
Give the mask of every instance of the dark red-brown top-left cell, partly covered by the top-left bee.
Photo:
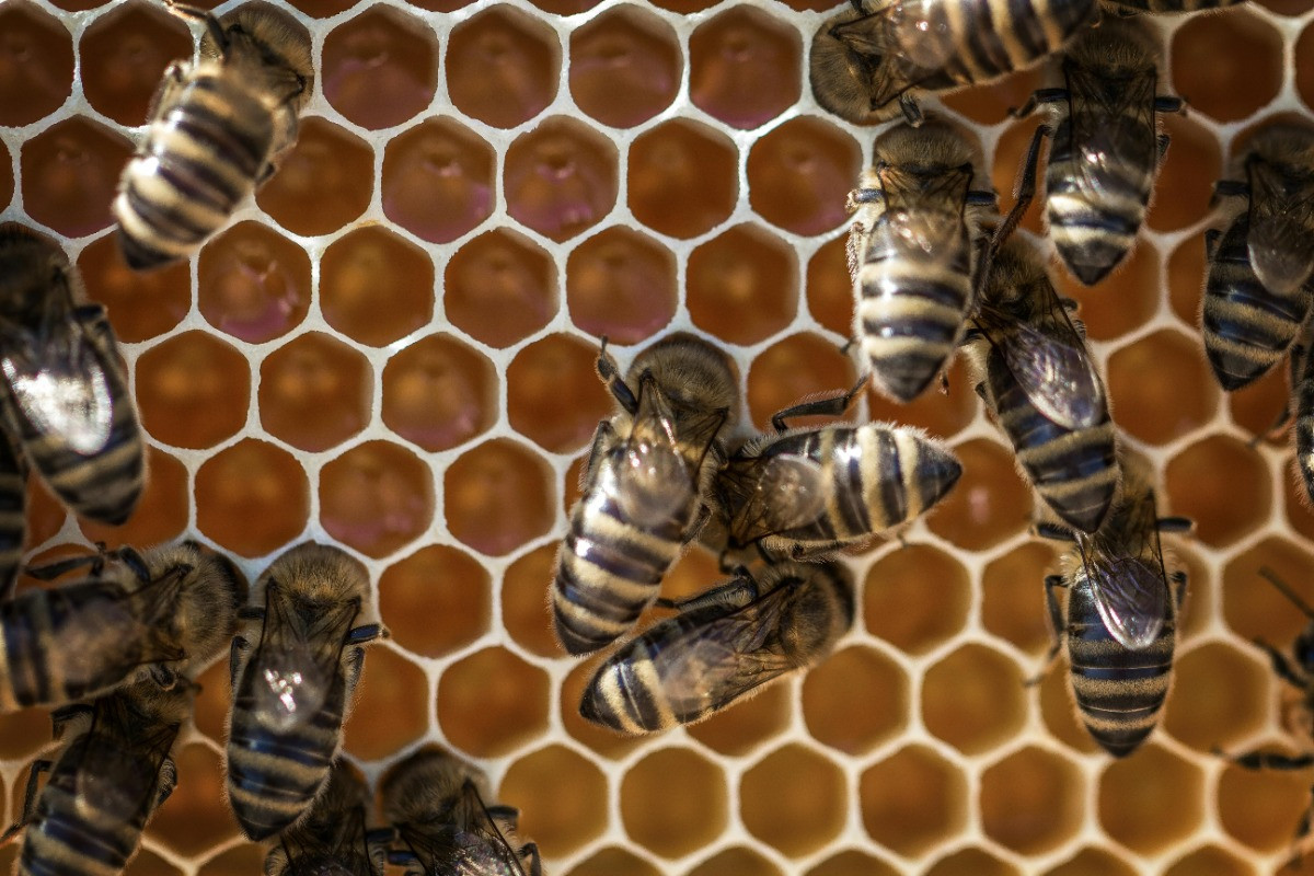
POLYGON ((164 68, 191 56, 192 35, 181 18, 163 8, 130 3, 87 28, 80 54, 87 101, 116 122, 141 125, 164 68))

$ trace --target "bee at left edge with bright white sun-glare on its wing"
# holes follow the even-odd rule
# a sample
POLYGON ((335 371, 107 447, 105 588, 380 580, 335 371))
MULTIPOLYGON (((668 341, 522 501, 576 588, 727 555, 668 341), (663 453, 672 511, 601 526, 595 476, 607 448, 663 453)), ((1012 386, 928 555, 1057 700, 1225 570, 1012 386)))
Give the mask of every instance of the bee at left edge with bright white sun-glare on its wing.
MULTIPOLYGON (((75 514, 118 525, 142 494, 142 429, 105 309, 85 301, 63 250, 21 226, 0 226, 5 428, 75 514)), ((17 486, 21 470, 4 471, 17 486)), ((11 508, 21 503, 8 498, 11 508)))

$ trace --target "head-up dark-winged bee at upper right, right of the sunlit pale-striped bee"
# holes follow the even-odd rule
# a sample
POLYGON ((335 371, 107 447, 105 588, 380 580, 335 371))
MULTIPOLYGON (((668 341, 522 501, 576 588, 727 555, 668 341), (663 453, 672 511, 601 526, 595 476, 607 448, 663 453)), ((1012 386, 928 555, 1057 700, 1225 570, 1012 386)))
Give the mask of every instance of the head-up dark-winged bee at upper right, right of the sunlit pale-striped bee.
MULTIPOLYGON (((1017 113, 1050 110, 1035 131, 1037 142, 1054 137, 1045 172, 1049 232, 1088 286, 1131 251, 1168 150, 1156 114, 1181 110, 1180 99, 1155 95, 1160 55, 1148 25, 1105 16, 1063 53, 1066 85, 1042 88, 1017 113)), ((1038 158, 1038 148, 1030 156, 1038 158)))

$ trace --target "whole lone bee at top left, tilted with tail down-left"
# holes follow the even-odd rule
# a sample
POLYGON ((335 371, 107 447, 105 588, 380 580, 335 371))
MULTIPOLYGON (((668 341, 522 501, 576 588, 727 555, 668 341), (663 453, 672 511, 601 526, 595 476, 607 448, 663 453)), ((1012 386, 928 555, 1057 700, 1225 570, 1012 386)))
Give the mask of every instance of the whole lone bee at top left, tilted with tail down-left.
POLYGON ((314 81, 309 37, 277 14, 248 7, 219 20, 172 0, 170 9, 202 21, 205 38, 200 60, 164 71, 146 141, 120 180, 118 243, 138 271, 188 256, 273 175, 314 81))

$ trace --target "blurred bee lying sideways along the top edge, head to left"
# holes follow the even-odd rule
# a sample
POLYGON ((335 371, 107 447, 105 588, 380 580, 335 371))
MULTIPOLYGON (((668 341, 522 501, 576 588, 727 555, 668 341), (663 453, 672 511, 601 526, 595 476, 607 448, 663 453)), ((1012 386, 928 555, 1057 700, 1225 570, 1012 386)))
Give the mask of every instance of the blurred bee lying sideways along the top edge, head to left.
POLYGON ((1089 24, 1099 0, 850 5, 812 38, 812 93, 823 109, 850 122, 886 121, 903 110, 918 125, 916 93, 955 91, 1029 67, 1089 24))

